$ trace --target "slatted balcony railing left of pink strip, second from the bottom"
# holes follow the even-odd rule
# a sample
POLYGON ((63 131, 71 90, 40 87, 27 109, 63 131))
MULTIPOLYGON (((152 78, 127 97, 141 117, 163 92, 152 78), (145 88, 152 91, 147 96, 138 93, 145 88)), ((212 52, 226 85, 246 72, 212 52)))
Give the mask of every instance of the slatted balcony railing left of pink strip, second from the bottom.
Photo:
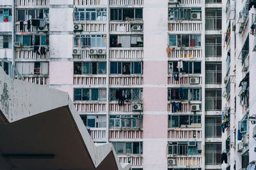
POLYGON ((109 139, 143 139, 143 131, 140 129, 109 128, 109 139))

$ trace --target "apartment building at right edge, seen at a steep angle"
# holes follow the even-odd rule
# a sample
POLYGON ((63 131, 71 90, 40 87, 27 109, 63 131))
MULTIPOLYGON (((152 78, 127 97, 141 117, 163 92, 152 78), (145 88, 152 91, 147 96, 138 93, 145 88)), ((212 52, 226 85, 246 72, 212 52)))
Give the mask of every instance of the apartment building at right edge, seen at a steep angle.
MULTIPOLYGON (((223 169, 255 168, 255 3, 225 1, 223 17, 223 169), (250 88, 251 87, 251 88, 250 88)), ((221 125, 222 126, 222 125, 221 125)))

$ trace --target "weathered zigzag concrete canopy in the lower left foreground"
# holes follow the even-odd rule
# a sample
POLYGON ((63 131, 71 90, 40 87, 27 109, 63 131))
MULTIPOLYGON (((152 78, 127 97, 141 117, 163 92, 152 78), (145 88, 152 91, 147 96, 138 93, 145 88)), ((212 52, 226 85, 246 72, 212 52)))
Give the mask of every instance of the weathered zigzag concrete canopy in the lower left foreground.
POLYGON ((130 169, 111 143, 94 145, 66 92, 0 69, 0 99, 0 169, 130 169))

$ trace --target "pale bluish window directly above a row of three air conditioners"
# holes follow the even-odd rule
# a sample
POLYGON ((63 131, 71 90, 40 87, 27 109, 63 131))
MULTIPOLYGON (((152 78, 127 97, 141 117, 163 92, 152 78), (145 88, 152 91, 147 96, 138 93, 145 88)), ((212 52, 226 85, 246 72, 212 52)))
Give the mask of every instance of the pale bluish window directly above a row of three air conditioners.
POLYGON ((106 35, 76 35, 74 37, 74 47, 78 48, 95 48, 106 47, 106 35))

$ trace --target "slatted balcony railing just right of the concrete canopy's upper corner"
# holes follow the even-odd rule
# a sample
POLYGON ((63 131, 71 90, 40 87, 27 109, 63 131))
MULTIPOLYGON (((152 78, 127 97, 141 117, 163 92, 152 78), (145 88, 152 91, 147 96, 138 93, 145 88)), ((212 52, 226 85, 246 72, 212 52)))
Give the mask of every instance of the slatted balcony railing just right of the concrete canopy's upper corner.
POLYGON ((106 103, 97 102, 97 103, 85 103, 85 102, 74 102, 74 106, 77 111, 81 113, 88 112, 105 112, 106 111, 106 103))

